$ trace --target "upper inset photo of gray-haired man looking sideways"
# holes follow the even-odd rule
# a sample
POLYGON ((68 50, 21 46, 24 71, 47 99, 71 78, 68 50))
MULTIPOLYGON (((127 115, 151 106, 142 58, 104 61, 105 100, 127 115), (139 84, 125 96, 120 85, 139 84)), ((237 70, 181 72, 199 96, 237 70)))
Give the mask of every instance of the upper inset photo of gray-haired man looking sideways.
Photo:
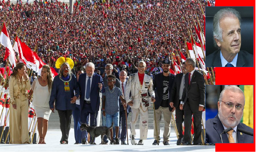
POLYGON ((253 7, 206 7, 206 67, 253 67, 253 7))

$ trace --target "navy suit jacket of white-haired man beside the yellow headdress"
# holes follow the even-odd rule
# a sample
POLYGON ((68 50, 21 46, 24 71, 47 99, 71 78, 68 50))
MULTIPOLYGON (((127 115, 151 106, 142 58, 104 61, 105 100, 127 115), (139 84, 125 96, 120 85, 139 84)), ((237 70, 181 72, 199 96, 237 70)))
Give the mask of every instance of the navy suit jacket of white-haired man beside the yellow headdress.
MULTIPOLYGON (((105 92, 104 84, 100 75, 93 73, 92 76, 92 85, 90 88, 90 100, 92 111, 98 111, 100 108, 100 88, 98 87, 98 83, 102 84, 101 92, 105 92)), ((83 110, 84 97, 85 97, 85 84, 86 84, 86 73, 83 73, 79 76, 78 80, 79 88, 80 88, 80 110, 83 110)))

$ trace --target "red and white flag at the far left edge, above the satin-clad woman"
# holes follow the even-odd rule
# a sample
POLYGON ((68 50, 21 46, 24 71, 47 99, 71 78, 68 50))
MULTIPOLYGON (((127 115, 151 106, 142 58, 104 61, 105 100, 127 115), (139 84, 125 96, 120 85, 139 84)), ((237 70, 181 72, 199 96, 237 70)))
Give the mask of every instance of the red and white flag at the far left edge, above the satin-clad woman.
POLYGON ((6 60, 7 57, 9 57, 10 64, 13 65, 14 67, 16 67, 17 59, 15 57, 15 53, 14 53, 12 45, 11 45, 10 36, 9 36, 8 31, 6 29, 5 23, 4 23, 2 32, 0 34, 0 43, 5 47, 5 58, 4 58, 4 60, 6 60))

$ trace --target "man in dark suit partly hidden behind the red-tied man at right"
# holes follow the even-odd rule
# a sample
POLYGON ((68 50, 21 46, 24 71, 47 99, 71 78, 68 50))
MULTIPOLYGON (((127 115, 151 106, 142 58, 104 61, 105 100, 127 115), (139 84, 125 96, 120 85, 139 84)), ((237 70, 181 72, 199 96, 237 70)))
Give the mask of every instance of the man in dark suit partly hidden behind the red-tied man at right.
POLYGON ((182 129, 182 123, 183 123, 183 116, 184 111, 180 110, 180 100, 182 97, 183 89, 185 86, 185 75, 188 73, 188 71, 185 68, 185 62, 183 62, 182 67, 182 73, 179 73, 175 76, 175 81, 173 84, 173 88, 171 90, 169 102, 170 106, 173 108, 175 107, 175 114, 176 114, 176 125, 177 130, 179 132, 179 138, 177 140, 177 145, 180 145, 183 138, 183 129, 182 129))

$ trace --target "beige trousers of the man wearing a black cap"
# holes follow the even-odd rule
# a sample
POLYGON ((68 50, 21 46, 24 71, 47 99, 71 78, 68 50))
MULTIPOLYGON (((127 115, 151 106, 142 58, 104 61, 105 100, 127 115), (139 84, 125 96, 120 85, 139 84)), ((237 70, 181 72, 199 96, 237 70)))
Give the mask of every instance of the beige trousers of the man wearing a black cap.
POLYGON ((169 142, 169 137, 170 137, 170 129, 171 129, 171 120, 172 120, 172 112, 169 110, 169 107, 159 107, 157 110, 155 110, 155 115, 156 115, 156 124, 157 124, 157 132, 156 133, 156 126, 155 126, 155 117, 154 117, 154 138, 155 140, 157 140, 158 137, 158 141, 160 139, 160 122, 162 119, 162 114, 164 115, 164 141, 168 141, 169 142))

